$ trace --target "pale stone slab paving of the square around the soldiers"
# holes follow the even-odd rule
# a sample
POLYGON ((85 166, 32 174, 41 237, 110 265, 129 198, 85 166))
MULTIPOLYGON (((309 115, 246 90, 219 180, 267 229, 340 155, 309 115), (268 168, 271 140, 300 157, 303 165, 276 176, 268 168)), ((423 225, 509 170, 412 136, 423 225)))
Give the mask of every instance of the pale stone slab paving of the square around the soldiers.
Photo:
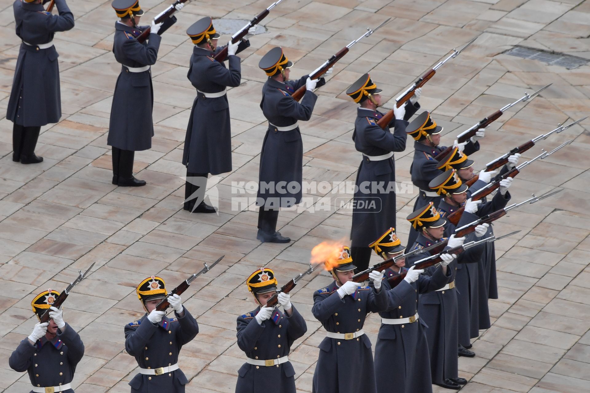
MULTIPOLYGON (((142 0, 143 22, 170 2, 142 0)), ((195 90, 186 79, 192 44, 185 35, 201 16, 250 19, 268 1, 192 1, 178 23, 163 34, 152 67, 155 94, 153 147, 136 154, 135 171, 148 186, 122 188, 111 181, 106 146, 113 88, 120 70, 112 41, 115 15, 110 2, 68 1, 76 27, 55 36, 60 53, 64 115, 42 127, 37 154, 42 164, 24 166, 11 157, 12 124, 0 120, 0 390, 29 391, 26 374, 12 371, 8 356, 36 319, 30 302, 48 288, 62 290, 96 262, 93 273, 65 303, 64 318, 86 345, 73 385, 78 393, 129 392, 136 362, 123 349, 123 326, 142 315, 137 283, 159 275, 173 288, 189 273, 225 255, 183 295, 198 316, 200 332, 181 352, 191 382, 187 392, 233 392, 244 354, 235 339, 238 314, 254 308, 244 285, 257 267, 276 270, 280 285, 309 262, 322 240, 347 242, 346 210, 281 212, 281 233, 293 242, 260 244, 257 213, 232 210, 232 182, 256 181, 266 122, 258 107, 264 74, 257 64, 273 45, 295 62, 293 77, 314 70, 330 55, 386 18, 392 21, 355 45, 321 88, 312 120, 301 126, 303 176, 309 181, 354 180, 360 163, 351 135, 355 107, 344 91, 370 71, 383 96, 396 96, 453 47, 478 37, 460 57, 442 67, 424 87, 422 107, 442 124, 444 143, 503 105, 553 82, 540 97, 511 108, 493 123, 472 158, 481 168, 492 158, 558 123, 590 111, 590 67, 574 70, 504 54, 514 45, 590 58, 590 1, 565 0, 285 0, 264 19, 264 32, 241 54, 242 84, 228 92, 234 171, 209 180, 220 213, 182 210, 180 163, 195 90), (250 3, 250 4, 248 4, 250 3)), ((5 114, 19 40, 12 1, 1 0, 0 109, 5 114)), ((241 25, 241 24, 240 24, 241 25)), ((228 39, 228 35, 220 40, 228 39)), ((391 107, 391 104, 386 105, 391 107)), ((513 210, 496 224, 500 298, 490 300, 493 326, 482 331, 476 358, 460 358, 465 393, 581 393, 590 386, 590 121, 540 142, 525 157, 568 139, 573 143, 520 174, 513 201, 531 193, 564 189, 558 197, 513 210)), ((396 178, 409 181, 412 143, 396 153, 396 178)), ((235 191, 235 190, 234 190, 235 191)), ((415 190, 412 190, 415 191, 415 190)), ((316 200, 321 190, 306 196, 316 200)), ((350 199, 342 191, 339 196, 350 199)), ((398 194, 398 234, 405 243, 416 193, 398 194)), ((307 334, 289 355, 297 389, 311 391, 317 344, 323 328, 311 313, 312 293, 330 281, 325 272, 306 277, 293 303, 307 320, 307 334)), ((375 315, 365 326, 375 342, 375 315)), ((261 381, 265 382, 265 381, 261 381)), ((267 381, 266 381, 267 382, 267 381)), ((395 384, 395 381, 394 381, 395 384)), ((435 391, 444 389, 435 387, 435 391)))

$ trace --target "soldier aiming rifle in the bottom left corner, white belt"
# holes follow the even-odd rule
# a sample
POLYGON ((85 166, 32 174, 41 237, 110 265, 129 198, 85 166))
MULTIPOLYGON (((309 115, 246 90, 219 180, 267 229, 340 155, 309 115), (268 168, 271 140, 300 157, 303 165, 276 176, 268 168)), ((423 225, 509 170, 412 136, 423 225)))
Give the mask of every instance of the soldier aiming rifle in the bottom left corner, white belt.
POLYGON ((80 335, 64 322, 63 310, 52 306, 59 294, 50 289, 35 296, 31 302, 35 315, 41 318, 49 311, 50 320, 37 323, 31 335, 21 341, 8 359, 14 371, 28 372, 31 393, 74 393, 71 381, 84 356, 84 344, 80 335))

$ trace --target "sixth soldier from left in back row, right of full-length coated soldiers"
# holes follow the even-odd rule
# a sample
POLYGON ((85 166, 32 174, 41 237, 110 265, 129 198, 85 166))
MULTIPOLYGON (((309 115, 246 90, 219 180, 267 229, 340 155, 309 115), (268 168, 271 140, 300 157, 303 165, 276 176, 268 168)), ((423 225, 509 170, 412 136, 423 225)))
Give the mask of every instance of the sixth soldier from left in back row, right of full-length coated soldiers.
MULTIPOLYGON (((434 206, 438 206, 438 202, 441 200, 440 195, 428 188, 428 183, 446 170, 435 158, 447 148, 439 146, 443 130, 444 127, 438 126, 428 111, 422 112, 406 128, 407 133, 414 138, 414 158, 409 169, 410 175, 412 184, 419 189, 414 210, 426 206, 430 202, 433 202, 434 206)), ((478 140, 484 137, 485 131, 485 128, 480 128, 476 136, 471 137, 467 143, 455 143, 455 146, 465 154, 475 153, 480 149, 478 140)), ((409 232, 408 249, 414 244, 417 235, 418 233, 415 231, 409 232)))

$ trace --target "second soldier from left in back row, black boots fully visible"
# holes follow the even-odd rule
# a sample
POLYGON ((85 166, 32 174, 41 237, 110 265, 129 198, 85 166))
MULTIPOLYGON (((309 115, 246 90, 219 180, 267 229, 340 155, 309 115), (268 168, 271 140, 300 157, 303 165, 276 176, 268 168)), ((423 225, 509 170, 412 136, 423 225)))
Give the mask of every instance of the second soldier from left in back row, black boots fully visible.
MULTIPOLYGON (((107 144, 113 147, 113 184, 121 187, 145 186, 133 176, 135 152, 152 147, 153 87, 150 66, 156 64, 160 47, 160 29, 169 27, 167 19, 150 26, 138 26, 143 15, 139 0, 114 0, 112 6, 120 18, 114 28, 114 58, 121 73, 114 87, 107 144), (147 41, 137 37, 150 28, 147 41)), ((175 6, 182 9, 183 4, 175 6)))

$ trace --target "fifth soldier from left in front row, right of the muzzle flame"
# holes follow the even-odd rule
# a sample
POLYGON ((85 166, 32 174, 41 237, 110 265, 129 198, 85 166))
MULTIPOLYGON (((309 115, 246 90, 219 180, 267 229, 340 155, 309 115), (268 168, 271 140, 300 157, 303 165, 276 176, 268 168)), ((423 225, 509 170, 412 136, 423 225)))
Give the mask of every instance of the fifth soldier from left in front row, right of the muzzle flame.
MULTIPOLYGON (((417 212, 416 217, 432 217, 438 222, 440 217, 429 216, 430 210, 417 212), (419 213, 419 214, 418 214, 419 213)), ((390 235, 395 233, 391 231, 390 235)), ((373 249, 383 259, 398 256, 405 247, 397 237, 391 237, 389 244, 383 239, 373 243, 373 249)), ((444 286, 450 279, 451 270, 447 265, 453 256, 445 255, 441 267, 435 269, 432 276, 421 275, 424 270, 406 269, 402 266, 404 258, 398 260, 399 265, 385 270, 383 288, 389 298, 389 306, 381 316, 381 328, 375 345, 375 374, 388 375, 388 378, 377 380, 377 392, 388 393, 428 393, 432 392, 430 377, 430 358, 425 329, 428 327, 418 315, 418 295, 429 293, 444 286), (395 276, 405 273, 405 278, 395 285, 395 276), (392 366, 394 365, 394 366, 392 366)))

